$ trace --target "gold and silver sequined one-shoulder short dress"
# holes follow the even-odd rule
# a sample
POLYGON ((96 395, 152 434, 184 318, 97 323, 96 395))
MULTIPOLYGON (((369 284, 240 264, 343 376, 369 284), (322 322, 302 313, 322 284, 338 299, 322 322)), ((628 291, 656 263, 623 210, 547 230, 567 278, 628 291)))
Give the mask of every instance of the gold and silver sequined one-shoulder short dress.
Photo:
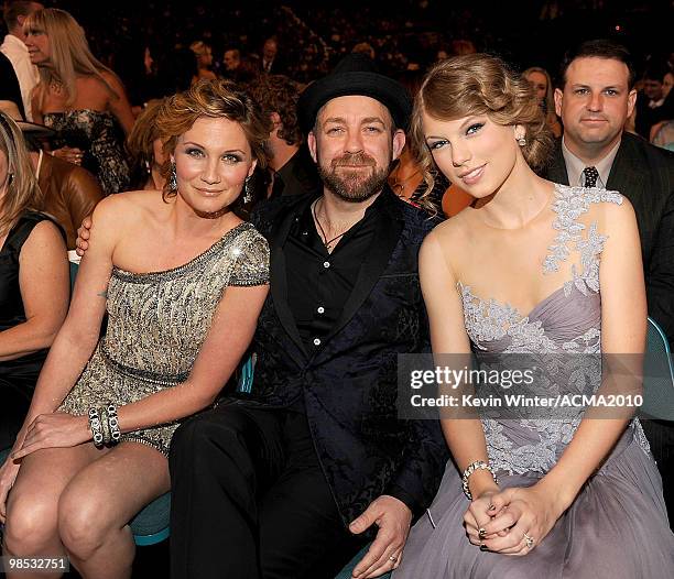
MULTIPOLYGON (((265 283, 269 245, 246 222, 178 267, 153 273, 113 267, 106 335, 58 412, 81 415, 93 406, 122 406, 184 382, 227 286, 265 283)), ((168 456, 178 425, 143 428, 121 439, 168 456)))

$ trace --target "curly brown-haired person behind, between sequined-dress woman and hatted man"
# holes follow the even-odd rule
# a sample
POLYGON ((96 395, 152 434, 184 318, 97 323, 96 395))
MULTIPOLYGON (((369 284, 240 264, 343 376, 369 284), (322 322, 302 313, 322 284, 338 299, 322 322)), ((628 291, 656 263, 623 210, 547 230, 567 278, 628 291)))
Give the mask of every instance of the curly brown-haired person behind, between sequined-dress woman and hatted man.
POLYGON ((268 196, 317 194, 320 179, 297 119, 297 85, 283 75, 262 75, 250 92, 272 124, 267 143, 271 173, 268 196))

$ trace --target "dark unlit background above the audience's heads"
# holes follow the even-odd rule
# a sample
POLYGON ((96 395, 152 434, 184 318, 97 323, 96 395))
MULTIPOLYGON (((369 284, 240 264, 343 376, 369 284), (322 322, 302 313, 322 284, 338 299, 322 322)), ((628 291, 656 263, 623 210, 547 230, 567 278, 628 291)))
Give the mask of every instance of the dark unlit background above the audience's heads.
POLYGON ((667 0, 45 0, 45 4, 68 10, 85 28, 94 54, 116 70, 135 57, 141 44, 153 46, 157 54, 204 40, 213 46, 218 72, 225 48, 259 54, 272 34, 279 39, 280 54, 297 65, 291 76, 300 81, 325 74, 362 41, 374 46, 382 72, 392 75, 411 64, 425 69, 438 48, 450 53, 455 40, 469 40, 478 52, 497 53, 515 67, 543 66, 553 78, 565 50, 590 37, 626 44, 638 70, 650 57, 666 61, 674 51, 674 2, 667 0))

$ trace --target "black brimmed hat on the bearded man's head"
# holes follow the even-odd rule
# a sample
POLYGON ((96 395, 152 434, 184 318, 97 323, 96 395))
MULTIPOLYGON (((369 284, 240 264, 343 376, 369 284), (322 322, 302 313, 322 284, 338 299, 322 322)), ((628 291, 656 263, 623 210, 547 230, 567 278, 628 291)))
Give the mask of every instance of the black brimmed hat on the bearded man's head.
POLYGON ((372 59, 362 53, 345 56, 327 76, 312 83, 297 101, 297 116, 302 130, 308 133, 316 114, 328 100, 359 95, 371 97, 384 105, 395 125, 405 130, 412 113, 412 99, 407 89, 377 72, 372 59))

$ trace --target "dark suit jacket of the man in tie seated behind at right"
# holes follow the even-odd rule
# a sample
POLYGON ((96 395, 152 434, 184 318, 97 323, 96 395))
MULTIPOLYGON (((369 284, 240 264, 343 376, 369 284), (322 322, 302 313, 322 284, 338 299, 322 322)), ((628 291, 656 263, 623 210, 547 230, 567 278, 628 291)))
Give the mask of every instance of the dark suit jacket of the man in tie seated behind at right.
MULTIPOLYGON (((558 140, 546 177, 568 185, 558 140)), ((607 189, 624 195, 637 214, 649 315, 674 342, 674 154, 623 133, 607 189)))

